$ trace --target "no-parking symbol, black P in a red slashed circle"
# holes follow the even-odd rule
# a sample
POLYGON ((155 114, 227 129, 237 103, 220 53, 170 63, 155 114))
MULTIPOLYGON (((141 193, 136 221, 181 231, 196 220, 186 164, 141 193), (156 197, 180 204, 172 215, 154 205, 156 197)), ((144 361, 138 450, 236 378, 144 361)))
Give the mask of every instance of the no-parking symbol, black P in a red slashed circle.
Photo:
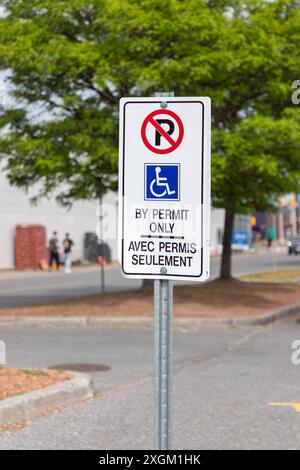
POLYGON ((184 127, 180 117, 170 110, 158 109, 143 121, 141 136, 145 146, 154 153, 166 154, 182 142, 184 127))

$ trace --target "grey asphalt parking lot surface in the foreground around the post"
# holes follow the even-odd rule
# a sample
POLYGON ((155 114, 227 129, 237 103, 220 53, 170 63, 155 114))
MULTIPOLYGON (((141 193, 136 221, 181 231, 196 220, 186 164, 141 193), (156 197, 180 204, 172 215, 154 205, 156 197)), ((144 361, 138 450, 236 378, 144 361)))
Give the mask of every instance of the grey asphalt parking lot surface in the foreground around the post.
MULTIPOLYGON (((111 367, 93 374, 95 399, 0 432, 0 449, 153 448, 151 330, 6 329, 0 336, 10 366, 111 367)), ((174 448, 300 449, 300 413, 288 405, 300 402, 300 365, 291 362, 295 339, 295 319, 177 331, 174 448)))

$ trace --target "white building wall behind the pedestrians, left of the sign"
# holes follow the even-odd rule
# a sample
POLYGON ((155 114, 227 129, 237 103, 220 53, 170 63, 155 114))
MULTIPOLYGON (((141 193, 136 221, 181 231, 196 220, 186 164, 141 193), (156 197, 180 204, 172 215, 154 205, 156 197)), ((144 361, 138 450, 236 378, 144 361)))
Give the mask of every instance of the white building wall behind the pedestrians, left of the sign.
MULTIPOLYGON (((103 228, 113 259, 117 258, 116 211, 117 196, 108 194, 103 198, 103 228)), ((73 257, 82 259, 84 233, 96 232, 97 223, 96 201, 76 202, 69 211, 54 199, 43 199, 37 206, 32 206, 28 195, 10 186, 5 174, 0 173, 0 269, 14 267, 14 233, 18 224, 44 225, 47 239, 53 230, 58 232, 60 240, 69 232, 75 242, 73 257)))

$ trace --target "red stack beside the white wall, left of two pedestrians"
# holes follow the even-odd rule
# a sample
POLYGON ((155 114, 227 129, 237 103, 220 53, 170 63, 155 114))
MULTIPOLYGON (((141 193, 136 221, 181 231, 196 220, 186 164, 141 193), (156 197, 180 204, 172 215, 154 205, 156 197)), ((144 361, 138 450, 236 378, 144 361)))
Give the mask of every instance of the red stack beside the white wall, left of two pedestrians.
POLYGON ((17 225, 15 233, 16 269, 36 269, 48 259, 46 228, 43 225, 17 225))

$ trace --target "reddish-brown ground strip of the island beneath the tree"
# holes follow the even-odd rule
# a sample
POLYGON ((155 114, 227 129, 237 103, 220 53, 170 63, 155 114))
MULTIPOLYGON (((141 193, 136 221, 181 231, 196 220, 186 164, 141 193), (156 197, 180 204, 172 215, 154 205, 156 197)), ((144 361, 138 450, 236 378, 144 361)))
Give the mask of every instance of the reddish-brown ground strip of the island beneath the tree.
MULTIPOLYGON (((251 275, 251 280, 217 279, 207 283, 175 286, 174 314, 178 317, 241 317, 265 314, 298 303, 300 285, 289 282, 289 276, 293 271, 294 279, 300 278, 300 269, 280 272, 286 271, 288 277, 281 275, 279 279, 274 277, 275 273, 278 276, 278 272, 272 271, 267 273, 268 280, 264 280, 266 273, 258 273, 251 275)), ((0 317, 27 315, 30 317, 153 317, 153 294, 148 291, 131 290, 87 295, 33 307, 0 310, 0 317)))

